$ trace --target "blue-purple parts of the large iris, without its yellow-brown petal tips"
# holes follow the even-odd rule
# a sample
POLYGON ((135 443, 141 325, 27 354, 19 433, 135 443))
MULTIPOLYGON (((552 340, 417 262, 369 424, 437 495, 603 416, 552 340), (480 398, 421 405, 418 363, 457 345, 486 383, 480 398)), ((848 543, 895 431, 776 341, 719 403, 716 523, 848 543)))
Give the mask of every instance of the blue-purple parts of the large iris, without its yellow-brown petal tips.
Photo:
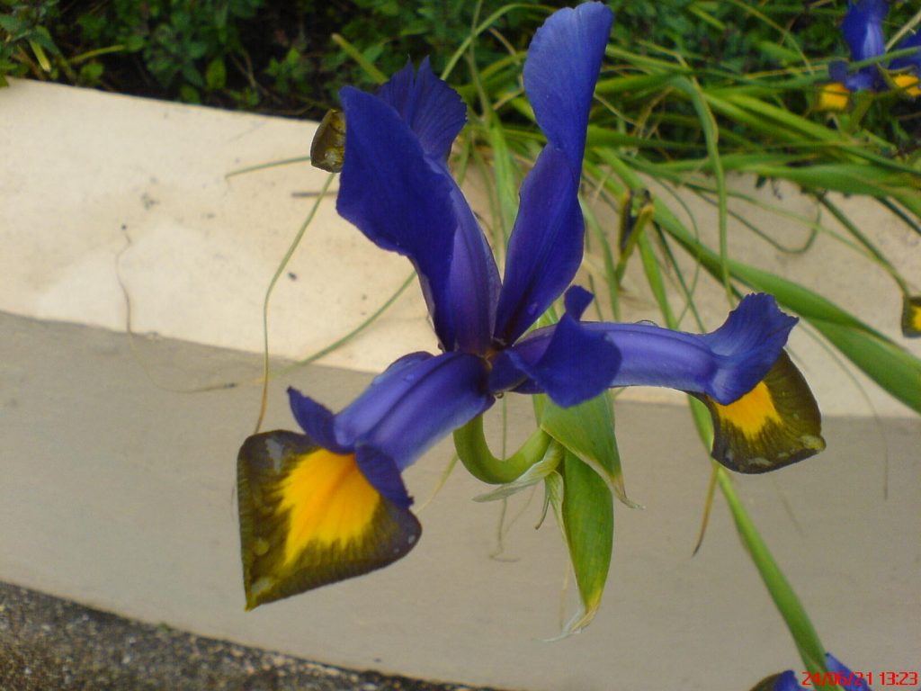
POLYGON ((291 407, 321 446, 357 450, 368 480, 404 506, 399 472, 484 413, 496 394, 545 392, 569 406, 608 387, 651 385, 729 404, 761 381, 797 321, 773 298, 756 295, 712 334, 581 322, 591 296, 573 287, 560 322, 521 337, 582 260, 582 155, 611 24, 610 10, 597 3, 564 9, 530 45, 524 86, 547 145, 521 186, 504 281, 448 168, 466 118, 460 96, 427 61, 416 75, 407 66, 377 94, 342 91, 338 211, 379 247, 414 264, 444 352, 403 357, 336 416, 294 390, 291 407))

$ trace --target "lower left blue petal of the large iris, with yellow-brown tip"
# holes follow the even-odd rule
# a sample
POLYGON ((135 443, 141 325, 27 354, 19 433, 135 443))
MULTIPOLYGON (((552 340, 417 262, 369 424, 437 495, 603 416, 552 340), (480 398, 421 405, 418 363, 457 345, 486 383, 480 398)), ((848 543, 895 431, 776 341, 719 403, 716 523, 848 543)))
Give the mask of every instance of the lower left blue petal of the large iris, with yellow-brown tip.
POLYGON ((493 403, 484 360, 402 357, 333 415, 294 389, 307 434, 244 442, 238 458, 247 607, 343 580, 406 555, 421 533, 401 472, 493 403))

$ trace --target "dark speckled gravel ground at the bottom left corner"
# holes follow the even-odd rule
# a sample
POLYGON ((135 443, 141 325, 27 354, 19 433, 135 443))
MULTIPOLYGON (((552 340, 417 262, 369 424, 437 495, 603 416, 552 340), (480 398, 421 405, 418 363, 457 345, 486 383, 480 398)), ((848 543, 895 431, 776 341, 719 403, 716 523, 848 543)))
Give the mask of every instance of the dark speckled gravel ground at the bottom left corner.
POLYGON ((356 672, 0 582, 0 691, 498 691, 356 672))

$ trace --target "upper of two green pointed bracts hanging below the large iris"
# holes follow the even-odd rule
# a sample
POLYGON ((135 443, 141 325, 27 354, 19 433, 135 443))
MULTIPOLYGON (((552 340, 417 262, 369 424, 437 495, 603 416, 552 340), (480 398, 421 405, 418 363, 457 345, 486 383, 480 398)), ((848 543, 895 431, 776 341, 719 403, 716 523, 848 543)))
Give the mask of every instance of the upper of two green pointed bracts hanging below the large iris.
POLYGON ((542 430, 577 454, 612 494, 635 509, 638 505, 627 498, 624 490, 624 472, 614 436, 614 411, 607 393, 568 408, 561 408, 546 396, 539 398, 542 430))

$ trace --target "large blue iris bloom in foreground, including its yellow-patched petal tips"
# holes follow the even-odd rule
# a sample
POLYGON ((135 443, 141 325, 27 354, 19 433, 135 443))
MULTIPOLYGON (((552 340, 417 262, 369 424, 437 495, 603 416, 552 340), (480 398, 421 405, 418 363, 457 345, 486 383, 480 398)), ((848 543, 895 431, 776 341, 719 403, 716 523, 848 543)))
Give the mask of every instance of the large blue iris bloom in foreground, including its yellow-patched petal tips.
POLYGON ((238 482, 248 607, 405 555, 421 528, 402 471, 504 392, 545 392, 563 406, 612 386, 693 392, 722 430, 720 460, 747 472, 822 448, 818 410, 783 354, 797 320, 769 296, 743 299, 711 334, 684 334, 582 322, 591 295, 572 287, 560 321, 526 334, 582 260, 578 189, 611 25, 610 10, 588 3, 554 13, 531 42, 524 85, 547 144, 521 186, 503 279, 448 167, 466 120, 460 96, 427 60, 415 74, 407 65, 376 94, 342 90, 337 209, 414 265, 442 352, 400 358, 338 414, 289 390, 306 434, 247 439, 238 482), (799 423, 787 427, 792 408, 799 423))

